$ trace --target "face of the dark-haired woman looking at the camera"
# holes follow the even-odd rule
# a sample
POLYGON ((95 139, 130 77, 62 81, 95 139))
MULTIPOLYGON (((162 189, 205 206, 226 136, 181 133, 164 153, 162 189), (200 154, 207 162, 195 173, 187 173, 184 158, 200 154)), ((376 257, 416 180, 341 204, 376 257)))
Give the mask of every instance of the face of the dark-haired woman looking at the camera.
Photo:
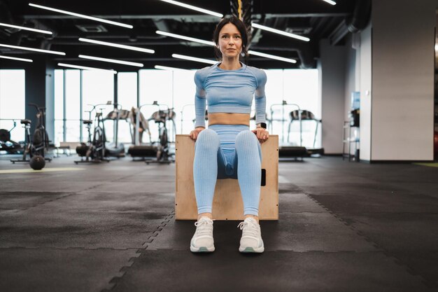
POLYGON ((242 36, 239 29, 232 23, 224 25, 219 32, 218 46, 224 59, 232 57, 239 58, 242 51, 242 36))

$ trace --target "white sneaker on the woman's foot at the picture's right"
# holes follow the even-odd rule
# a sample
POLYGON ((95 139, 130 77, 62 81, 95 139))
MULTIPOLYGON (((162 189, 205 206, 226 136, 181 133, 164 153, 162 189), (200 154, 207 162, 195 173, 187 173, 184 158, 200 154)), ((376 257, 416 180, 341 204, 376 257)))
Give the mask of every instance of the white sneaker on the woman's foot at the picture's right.
POLYGON ((255 218, 248 217, 237 227, 242 230, 239 247, 241 253, 262 253, 264 251, 262 231, 255 218))

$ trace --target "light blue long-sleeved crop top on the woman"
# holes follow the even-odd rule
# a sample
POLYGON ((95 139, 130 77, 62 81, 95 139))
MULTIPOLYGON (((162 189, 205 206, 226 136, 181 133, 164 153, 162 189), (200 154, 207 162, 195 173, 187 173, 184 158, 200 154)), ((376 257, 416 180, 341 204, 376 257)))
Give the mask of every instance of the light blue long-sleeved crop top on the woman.
POLYGON ((224 70, 214 64, 195 73, 195 127, 205 127, 206 104, 209 113, 251 112, 255 97, 255 123, 266 123, 266 73, 246 66, 237 70, 224 70))

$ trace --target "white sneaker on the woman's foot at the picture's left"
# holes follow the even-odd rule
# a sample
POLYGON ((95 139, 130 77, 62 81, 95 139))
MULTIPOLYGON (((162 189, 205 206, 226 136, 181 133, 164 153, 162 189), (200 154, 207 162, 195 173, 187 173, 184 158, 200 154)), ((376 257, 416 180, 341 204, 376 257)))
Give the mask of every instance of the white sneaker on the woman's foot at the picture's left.
POLYGON ((213 240, 213 220, 202 216, 195 222, 196 231, 190 241, 190 251, 192 253, 214 251, 213 240))

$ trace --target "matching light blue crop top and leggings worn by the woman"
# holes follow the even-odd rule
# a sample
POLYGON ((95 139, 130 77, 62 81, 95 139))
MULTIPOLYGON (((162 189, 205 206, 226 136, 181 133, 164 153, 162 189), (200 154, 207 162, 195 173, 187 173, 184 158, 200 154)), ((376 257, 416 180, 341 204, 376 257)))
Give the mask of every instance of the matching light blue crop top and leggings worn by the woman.
MULTIPOLYGON (((195 74, 195 127, 205 127, 206 104, 209 113, 250 114, 254 97, 255 123, 265 123, 264 71, 242 63, 240 69, 223 70, 218 64, 195 74)), ((209 125, 200 132, 193 164, 198 214, 211 213, 216 179, 239 179, 244 215, 258 216, 261 160, 260 143, 248 125, 209 125)))

